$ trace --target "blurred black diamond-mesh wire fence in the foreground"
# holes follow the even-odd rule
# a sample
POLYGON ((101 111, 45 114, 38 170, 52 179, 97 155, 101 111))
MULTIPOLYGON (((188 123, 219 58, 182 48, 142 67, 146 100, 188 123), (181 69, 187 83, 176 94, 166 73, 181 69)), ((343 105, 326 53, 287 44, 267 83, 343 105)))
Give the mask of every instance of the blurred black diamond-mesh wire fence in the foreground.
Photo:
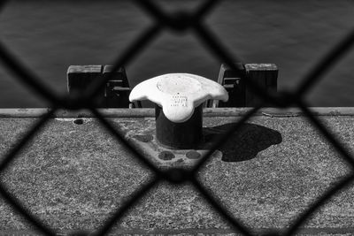
MULTIPOLYGON (((4 6, 6 1, 2 1, 0 6, 4 6)), ((127 50, 124 51, 119 57, 117 57, 115 64, 113 65, 112 71, 118 69, 122 65, 127 65, 130 63, 135 56, 144 48, 148 46, 156 36, 164 29, 172 29, 177 32, 189 31, 191 34, 195 34, 196 38, 204 44, 205 49, 208 49, 214 57, 217 57, 220 61, 225 62, 230 68, 238 72, 240 78, 246 81, 246 86, 250 88, 254 93, 263 99, 265 103, 271 103, 274 107, 287 108, 289 106, 297 106, 303 110, 307 118, 312 122, 313 126, 317 127, 320 133, 322 133, 336 149, 336 151, 342 156, 342 158, 347 162, 350 167, 354 168, 353 156, 343 148, 342 144, 335 139, 335 136, 327 130, 327 128, 321 124, 318 118, 313 116, 312 112, 307 108, 307 104, 304 102, 304 94, 313 88, 321 77, 331 68, 335 62, 342 57, 342 55, 347 52, 352 44, 354 44, 354 29, 346 37, 342 39, 335 47, 329 49, 329 52, 325 57, 323 57, 317 66, 308 72, 304 79, 302 80, 300 86, 295 90, 295 92, 284 92, 278 95, 267 94, 264 90, 258 87, 258 85, 252 80, 248 80, 247 74, 240 71, 234 64, 235 61, 240 61, 237 57, 230 55, 229 51, 223 47, 222 42, 218 37, 212 33, 211 29, 204 24, 204 18, 209 11, 212 11, 214 6, 218 4, 219 1, 206 0, 200 5, 200 7, 195 12, 178 12, 176 14, 168 14, 159 8, 158 4, 155 4, 150 0, 135 0, 135 4, 142 8, 152 19, 155 20, 153 26, 149 27, 140 34, 137 39, 131 43, 127 50)), ((27 69, 26 66, 22 65, 18 58, 12 56, 10 51, 0 43, 0 58, 4 66, 11 70, 16 76, 15 78, 19 80, 20 83, 25 84, 27 88, 35 90, 35 93, 41 95, 43 99, 47 100, 51 106, 50 112, 42 117, 35 126, 32 127, 21 139, 12 147, 8 152, 2 163, 0 164, 0 173, 12 163, 19 151, 24 148, 28 141, 30 141, 35 134, 49 121, 49 118, 58 109, 67 110, 79 110, 79 109, 89 109, 93 112, 99 122, 106 128, 106 130, 112 134, 112 136, 123 145, 125 145, 131 152, 132 156, 140 160, 146 168, 154 171, 155 176, 150 179, 148 183, 145 183, 140 189, 132 194, 127 202, 125 202, 112 217, 104 222, 101 229, 96 231, 97 235, 104 235, 112 229, 112 226, 116 224, 120 218, 122 218, 127 210, 138 202, 152 187, 155 187, 158 182, 162 180, 168 180, 170 183, 175 185, 185 184, 189 182, 192 184, 196 190, 204 196, 204 199, 211 204, 213 209, 217 210, 219 214, 224 217, 227 222, 229 222, 235 229, 235 232, 241 232, 244 235, 251 235, 252 232, 245 225, 232 216, 232 214, 219 202, 218 198, 210 192, 203 183, 197 179, 197 173, 205 162, 212 156, 212 153, 218 148, 222 143, 227 141, 228 137, 235 133, 253 114, 255 114, 260 108, 255 107, 250 110, 242 119, 240 119, 235 126, 227 131, 225 135, 215 141, 212 148, 202 157, 202 159, 196 164, 192 170, 182 170, 182 169, 171 169, 169 171, 161 171, 154 164, 152 164, 147 158, 142 156, 140 152, 135 150, 135 148, 122 136, 121 133, 117 132, 115 128, 107 121, 102 114, 95 108, 95 95, 104 87, 106 81, 110 80, 110 74, 105 75, 101 80, 94 80, 90 87, 85 91, 85 93, 76 95, 74 97, 67 97, 67 95, 56 95, 50 88, 47 88, 38 80, 37 76, 27 69)), ((350 183, 353 182, 354 174, 351 173, 346 178, 342 179, 336 186, 331 187, 327 190, 325 194, 322 194, 315 202, 313 202, 308 209, 306 209, 296 220, 292 223, 291 227, 287 232, 282 232, 285 235, 295 234, 301 225, 312 216, 312 214, 323 206, 332 196, 342 190, 344 187, 348 187, 350 183)), ((38 231, 48 234, 55 235, 53 229, 50 229, 47 225, 44 225, 40 219, 35 217, 29 210, 27 210, 22 202, 19 202, 12 193, 4 187, 3 183, 0 183, 0 194, 3 199, 12 205, 13 209, 16 209, 19 214, 25 217, 31 224, 33 224, 38 231)), ((279 232, 273 232, 276 235, 279 232)))

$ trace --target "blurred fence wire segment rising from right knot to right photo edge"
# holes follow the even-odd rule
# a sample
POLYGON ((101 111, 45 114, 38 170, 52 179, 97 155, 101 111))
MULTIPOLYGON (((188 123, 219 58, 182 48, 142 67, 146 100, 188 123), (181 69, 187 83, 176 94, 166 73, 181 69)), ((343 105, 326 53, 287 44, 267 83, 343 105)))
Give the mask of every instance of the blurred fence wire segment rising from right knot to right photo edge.
POLYGON ((341 42, 337 43, 335 47, 330 49, 327 55, 322 57, 317 65, 315 65, 313 69, 304 76, 304 79, 296 89, 296 95, 304 96, 304 94, 313 88, 313 86, 319 82, 321 77, 329 69, 331 69, 331 67, 333 67, 335 63, 340 60, 353 45, 354 29, 350 31, 350 34, 347 34, 344 38, 342 38, 341 42))

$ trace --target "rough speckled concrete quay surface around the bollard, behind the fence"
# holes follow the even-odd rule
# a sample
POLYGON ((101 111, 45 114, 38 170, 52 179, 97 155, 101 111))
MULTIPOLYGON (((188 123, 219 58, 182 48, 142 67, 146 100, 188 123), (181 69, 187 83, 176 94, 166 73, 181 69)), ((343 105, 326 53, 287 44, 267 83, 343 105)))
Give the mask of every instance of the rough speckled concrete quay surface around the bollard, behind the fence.
MULTIPOLYGON (((204 118, 211 142, 239 118, 204 118)), ((353 153, 354 118, 320 117, 353 153)), ((36 118, 0 118, 1 158, 35 124, 36 118)), ((158 166, 153 118, 110 118, 135 147, 158 166), (150 135, 146 138, 145 135, 150 135), (142 139, 141 137, 145 137, 142 139)), ((203 145, 202 145, 203 146, 203 145)), ((203 146, 200 149, 207 148, 203 146)), ((173 151, 172 151, 173 152, 173 151)), ((187 165, 195 160, 183 157, 187 165)), ((250 119, 199 173, 199 179, 242 224, 255 232, 285 229, 320 194, 350 172, 333 148, 304 117, 250 119)), ((131 156, 94 118, 50 119, 1 175, 14 196, 36 217, 58 230, 94 230, 153 173, 131 156)), ((337 194, 306 222, 304 233, 354 232, 354 189, 337 194)), ((0 229, 30 229, 0 200, 0 229)), ((189 184, 161 182, 114 229, 122 233, 230 233, 230 225, 189 184)), ((348 234, 348 235, 349 235, 348 234)))

